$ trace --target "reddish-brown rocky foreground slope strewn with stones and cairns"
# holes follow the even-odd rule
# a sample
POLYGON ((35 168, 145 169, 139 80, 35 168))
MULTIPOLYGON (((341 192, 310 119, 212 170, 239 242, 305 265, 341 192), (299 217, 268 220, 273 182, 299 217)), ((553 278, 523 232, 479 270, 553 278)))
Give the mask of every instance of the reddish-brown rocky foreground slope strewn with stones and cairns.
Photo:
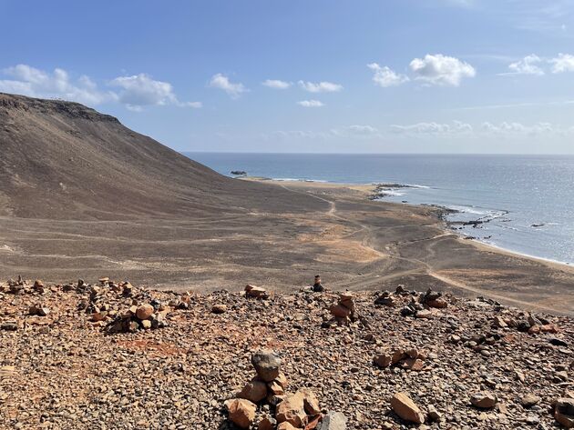
POLYGON ((2 284, 0 427, 574 423, 569 317, 404 287, 246 290, 182 295, 107 278, 2 284))

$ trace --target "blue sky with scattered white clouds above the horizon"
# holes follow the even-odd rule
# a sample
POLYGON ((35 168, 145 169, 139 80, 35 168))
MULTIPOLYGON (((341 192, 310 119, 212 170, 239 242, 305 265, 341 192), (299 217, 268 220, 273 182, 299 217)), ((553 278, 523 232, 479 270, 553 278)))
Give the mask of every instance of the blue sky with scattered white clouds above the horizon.
POLYGON ((0 92, 179 151, 574 154, 572 0, 0 0, 0 92))

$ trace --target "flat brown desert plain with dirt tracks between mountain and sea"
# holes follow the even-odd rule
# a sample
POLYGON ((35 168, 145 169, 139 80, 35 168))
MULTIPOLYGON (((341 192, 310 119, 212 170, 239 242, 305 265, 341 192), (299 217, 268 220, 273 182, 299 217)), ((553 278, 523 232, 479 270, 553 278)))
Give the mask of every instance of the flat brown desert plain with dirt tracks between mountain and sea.
POLYGON ((291 292, 320 274, 333 290, 432 287, 574 315, 573 268, 465 240, 448 231, 439 209, 371 201, 373 185, 251 180, 272 185, 261 193, 289 191, 297 210, 270 204, 120 221, 1 217, 0 277, 108 275, 179 291, 238 291, 250 283, 291 292))

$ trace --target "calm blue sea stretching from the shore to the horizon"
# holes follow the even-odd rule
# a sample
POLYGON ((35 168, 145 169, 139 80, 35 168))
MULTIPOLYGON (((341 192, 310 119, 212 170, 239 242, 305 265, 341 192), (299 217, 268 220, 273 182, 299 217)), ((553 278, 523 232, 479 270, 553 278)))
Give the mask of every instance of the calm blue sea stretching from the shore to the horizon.
POLYGON ((451 221, 490 245, 574 263, 574 156, 567 155, 279 155, 192 153, 223 175, 339 183, 398 183, 384 199, 443 205, 451 221))

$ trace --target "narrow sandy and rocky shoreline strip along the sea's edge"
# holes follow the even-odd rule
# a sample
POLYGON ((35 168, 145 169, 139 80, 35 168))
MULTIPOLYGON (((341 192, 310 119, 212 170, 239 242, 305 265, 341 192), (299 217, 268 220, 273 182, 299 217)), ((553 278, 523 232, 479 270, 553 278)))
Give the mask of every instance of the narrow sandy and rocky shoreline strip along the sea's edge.
POLYGON ((407 188, 407 187, 415 187, 418 185, 386 184, 386 183, 372 183, 372 184, 349 184, 349 183, 346 183, 345 184, 345 183, 337 183, 337 182, 314 181, 311 179, 294 179, 294 178, 293 179, 289 179, 289 178, 278 179, 278 178, 268 178, 268 177, 263 177, 263 176, 249 176, 249 175, 238 176, 238 177, 236 177, 236 179, 240 179, 240 180, 244 180, 244 181, 271 183, 271 184, 276 184, 276 185, 280 185, 280 186, 281 185, 291 185, 291 186, 295 186, 295 187, 296 186, 301 186, 301 187, 313 186, 316 188, 332 188, 332 189, 333 188, 348 188, 351 190, 364 192, 366 197, 369 200, 374 201, 374 202, 381 202, 381 203, 384 203, 387 205, 413 206, 413 207, 423 207, 423 208, 436 209, 438 211, 441 211, 439 218, 442 221, 442 223, 444 224, 445 233, 450 234, 450 235, 455 235, 458 240, 464 241, 467 244, 474 245, 480 251, 494 252, 494 253, 501 254, 501 255, 508 255, 508 256, 513 256, 513 257, 518 257, 518 258, 524 258, 527 260, 536 261, 536 262, 544 264, 544 265, 549 265, 549 266, 557 268, 557 269, 568 269, 568 271, 571 271, 572 273, 574 273, 574 265, 572 265, 569 262, 562 262, 562 261, 553 260, 551 258, 545 258, 542 256, 537 256, 537 255, 528 255, 528 254, 520 253, 518 251, 508 249, 508 248, 505 248, 502 246, 483 242, 480 239, 477 239, 475 237, 461 235, 460 233, 456 232, 455 230, 453 230, 451 228, 451 225, 454 225, 457 222, 450 222, 446 219, 446 215, 460 212, 460 211, 456 211, 456 209, 452 209, 450 207, 443 206, 443 205, 392 202, 392 201, 384 200, 384 195, 381 195, 379 198, 376 197, 376 195, 377 195, 376 192, 379 190, 379 187, 381 187, 381 186, 393 185, 393 186, 401 186, 401 187, 407 188), (372 193, 369 195, 368 194, 369 192, 372 192, 372 193))

